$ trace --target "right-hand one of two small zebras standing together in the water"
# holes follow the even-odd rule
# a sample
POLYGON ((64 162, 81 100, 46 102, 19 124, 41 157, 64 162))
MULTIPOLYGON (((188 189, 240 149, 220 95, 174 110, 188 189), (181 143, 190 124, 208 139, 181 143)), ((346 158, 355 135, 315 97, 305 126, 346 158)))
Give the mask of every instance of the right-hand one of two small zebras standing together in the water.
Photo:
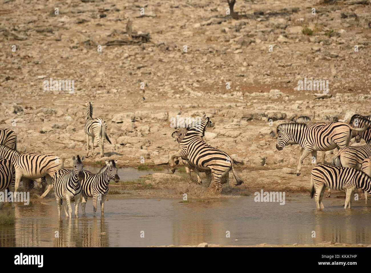
POLYGON ((106 165, 99 170, 99 173, 91 173, 88 171, 83 171, 83 179, 81 181, 82 187, 82 214, 85 215, 85 206, 88 197, 93 198, 93 216, 96 212, 96 202, 98 196, 100 195, 101 200, 101 212, 102 216, 104 215, 104 201, 106 200, 106 195, 108 193, 108 184, 112 179, 116 183, 120 181, 119 176, 117 175, 117 160, 105 160, 106 165))

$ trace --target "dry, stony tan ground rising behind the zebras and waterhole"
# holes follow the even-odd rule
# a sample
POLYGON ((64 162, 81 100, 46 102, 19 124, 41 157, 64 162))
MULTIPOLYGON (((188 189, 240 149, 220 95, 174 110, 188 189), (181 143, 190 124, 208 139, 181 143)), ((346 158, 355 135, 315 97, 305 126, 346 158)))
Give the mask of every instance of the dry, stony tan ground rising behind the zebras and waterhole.
MULTIPOLYGON (((303 115, 348 122, 370 114, 371 3, 325 2, 237 1, 234 20, 221 0, 3 1, 0 126, 17 133, 20 152, 52 153, 70 166, 86 153, 85 102, 94 101, 112 142, 106 158, 164 165, 166 174, 178 147, 171 122, 206 114, 214 122, 206 142, 244 162, 240 192, 308 191, 311 159, 297 177, 301 149, 276 150, 276 127, 303 115), (149 41, 128 36, 129 19, 149 41), (73 92, 45 90, 50 78, 74 81, 73 92), (328 80, 327 98, 298 90, 304 78, 328 80)), ((86 165, 101 164, 94 152, 86 165)), ((188 185, 185 176, 148 180, 173 188, 170 196, 188 185)))

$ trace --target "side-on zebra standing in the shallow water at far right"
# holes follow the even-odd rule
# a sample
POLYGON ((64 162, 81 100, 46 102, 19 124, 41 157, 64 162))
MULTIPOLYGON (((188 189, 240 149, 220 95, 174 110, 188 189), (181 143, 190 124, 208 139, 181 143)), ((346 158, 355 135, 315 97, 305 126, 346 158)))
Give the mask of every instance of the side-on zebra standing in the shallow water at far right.
POLYGON ((362 188, 371 193, 370 183, 371 177, 361 170, 334 165, 317 165, 312 169, 311 173, 311 198, 316 192, 314 197, 317 208, 325 208, 322 202, 325 186, 337 191, 346 190, 347 196, 344 208, 347 208, 348 204, 350 208, 354 189, 362 188), (351 198, 350 202, 349 198, 351 198))

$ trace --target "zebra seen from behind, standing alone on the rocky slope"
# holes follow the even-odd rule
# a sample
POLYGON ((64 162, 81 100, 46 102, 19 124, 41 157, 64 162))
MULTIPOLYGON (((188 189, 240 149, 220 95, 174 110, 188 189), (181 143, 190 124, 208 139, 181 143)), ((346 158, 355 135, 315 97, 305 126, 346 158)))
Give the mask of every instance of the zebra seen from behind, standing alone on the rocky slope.
POLYGON ((107 123, 103 118, 93 118, 93 104, 94 102, 86 102, 86 122, 85 122, 85 135, 86 135, 86 157, 89 155, 89 136, 92 138, 92 156, 94 155, 94 137, 98 141, 98 146, 101 147, 101 157, 104 156, 104 139, 106 138, 111 143, 107 136, 107 123))

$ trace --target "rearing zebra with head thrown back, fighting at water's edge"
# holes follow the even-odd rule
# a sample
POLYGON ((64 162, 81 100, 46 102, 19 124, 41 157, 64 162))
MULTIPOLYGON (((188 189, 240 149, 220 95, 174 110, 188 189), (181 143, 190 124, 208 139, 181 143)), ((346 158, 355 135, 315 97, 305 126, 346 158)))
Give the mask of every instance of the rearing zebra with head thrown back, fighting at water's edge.
POLYGON ((195 167, 211 169, 211 175, 215 184, 213 186, 216 186, 217 191, 221 189, 221 178, 228 175, 231 169, 234 178, 236 178, 235 185, 241 185, 243 181, 236 175, 233 168, 234 164, 239 165, 238 162, 231 159, 227 153, 206 144, 202 139, 209 122, 210 118, 205 115, 202 119, 194 122, 192 127, 188 129, 183 140, 179 143, 180 148, 174 155, 171 155, 171 171, 175 172, 175 158, 187 157, 189 162, 195 167))

